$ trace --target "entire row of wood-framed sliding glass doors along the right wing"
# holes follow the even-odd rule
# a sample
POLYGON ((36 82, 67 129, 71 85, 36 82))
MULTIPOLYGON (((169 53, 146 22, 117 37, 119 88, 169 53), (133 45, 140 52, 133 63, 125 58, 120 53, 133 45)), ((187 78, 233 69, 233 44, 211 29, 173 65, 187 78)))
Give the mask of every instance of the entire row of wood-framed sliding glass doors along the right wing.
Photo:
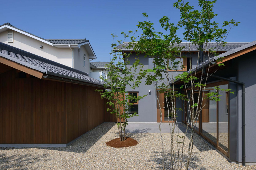
MULTIPOLYGON (((229 152, 229 93, 222 90, 216 90, 216 86, 219 89, 228 89, 228 82, 221 81, 214 84, 208 84, 204 89, 203 93, 194 93, 194 100, 202 102, 203 109, 200 112, 200 116, 196 118, 195 130, 198 134, 202 135, 208 142, 216 146, 226 156, 229 152), (217 93, 219 101, 209 100, 207 93, 217 93)), ((200 103, 199 103, 200 104, 200 103)), ((192 103, 185 102, 185 118, 183 121, 189 124, 191 127, 192 103), (190 106, 187 106, 190 104, 190 106), (190 111, 189 111, 190 109, 190 111), (189 114, 190 113, 190 114, 189 114), (188 119, 189 118, 189 119, 188 119)))

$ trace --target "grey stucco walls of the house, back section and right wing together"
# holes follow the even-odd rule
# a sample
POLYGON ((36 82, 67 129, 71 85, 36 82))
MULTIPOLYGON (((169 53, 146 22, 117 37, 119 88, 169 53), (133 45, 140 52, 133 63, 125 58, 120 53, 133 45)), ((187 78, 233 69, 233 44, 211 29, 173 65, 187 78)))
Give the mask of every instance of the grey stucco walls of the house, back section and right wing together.
MULTIPOLYGON (((230 66, 225 70, 219 70, 216 75, 230 77, 230 79, 242 81, 246 85, 246 163, 256 162, 256 130, 255 130, 255 111, 256 111, 256 52, 252 51, 246 55, 232 59, 230 66), (232 76, 230 76, 232 75, 232 76), (236 77, 234 77, 236 76, 236 77)), ((132 55, 130 61, 138 56, 132 55)), ((153 68, 152 58, 144 58, 139 56, 144 69, 153 68)), ((197 61, 197 54, 192 58, 192 65, 197 61)), ((132 64, 132 62, 131 62, 132 64)), ((195 63, 196 64, 196 63, 195 63)), ((178 72, 179 73, 179 72, 178 72)), ((180 72, 182 73, 182 72, 180 72)), ((211 83, 211 82, 209 82, 211 83)), ((227 88, 227 85, 221 87, 227 88)), ((229 114, 222 114, 219 122, 227 122, 229 120, 229 160, 242 162, 242 88, 235 83, 229 83, 228 88, 235 91, 229 95, 229 114)), ((148 94, 144 99, 139 101, 139 117, 131 118, 130 122, 156 122, 156 91, 154 86, 144 85, 144 80, 139 88, 135 91, 139 95, 148 94), (148 93, 151 90, 151 94, 148 93)), ((226 95, 221 96, 222 101, 226 101, 226 95)), ((182 101, 176 100, 176 108, 183 107, 182 101)), ((188 106, 186 108, 188 110, 188 106)), ((219 102, 219 112, 226 112, 226 103, 219 102)), ((182 114, 178 113, 178 121, 181 122, 182 114)), ((183 118, 184 119, 184 118, 183 118)), ((210 116, 210 122, 216 122, 216 110, 214 118, 210 116)))

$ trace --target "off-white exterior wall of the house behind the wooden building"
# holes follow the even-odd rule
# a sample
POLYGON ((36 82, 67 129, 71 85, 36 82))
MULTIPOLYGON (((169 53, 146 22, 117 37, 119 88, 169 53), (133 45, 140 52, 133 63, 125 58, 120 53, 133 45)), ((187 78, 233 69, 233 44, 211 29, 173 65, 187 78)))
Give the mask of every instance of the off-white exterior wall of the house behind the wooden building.
MULTIPOLYGON (((7 42, 7 31, 0 33, 0 42, 6 43, 10 46, 20 48, 24 51, 28 51, 35 55, 39 55, 46 59, 58 62, 65 66, 72 67, 72 51, 69 47, 67 48, 57 48, 53 47, 47 43, 36 40, 32 37, 26 36, 22 33, 13 31, 13 43, 7 42), (40 46, 43 46, 41 49, 40 46)), ((81 70, 83 72, 89 73, 89 54, 86 51, 84 46, 81 46, 81 51, 78 52, 78 48, 73 49, 73 68, 81 70), (86 54, 85 58, 85 67, 83 66, 83 57, 86 54)))

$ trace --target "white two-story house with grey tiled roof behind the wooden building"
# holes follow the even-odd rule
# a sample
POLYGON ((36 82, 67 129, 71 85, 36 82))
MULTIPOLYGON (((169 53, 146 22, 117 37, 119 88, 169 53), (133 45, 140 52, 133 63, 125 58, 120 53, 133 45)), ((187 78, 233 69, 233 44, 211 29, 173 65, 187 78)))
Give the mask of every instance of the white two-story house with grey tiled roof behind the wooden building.
POLYGON ((0 25, 0 42, 85 73, 90 71, 89 59, 96 59, 89 40, 44 39, 10 23, 0 25))

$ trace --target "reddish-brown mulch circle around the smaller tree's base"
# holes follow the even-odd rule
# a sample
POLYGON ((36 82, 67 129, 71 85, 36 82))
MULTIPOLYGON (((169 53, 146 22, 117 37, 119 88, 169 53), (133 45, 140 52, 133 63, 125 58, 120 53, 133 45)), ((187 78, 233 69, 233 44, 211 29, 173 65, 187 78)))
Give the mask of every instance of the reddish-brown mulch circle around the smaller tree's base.
POLYGON ((125 148, 125 147, 135 146, 138 144, 138 142, 133 138, 128 137, 128 138, 125 138, 124 141, 120 141, 120 138, 116 138, 106 142, 106 144, 114 148, 125 148))

